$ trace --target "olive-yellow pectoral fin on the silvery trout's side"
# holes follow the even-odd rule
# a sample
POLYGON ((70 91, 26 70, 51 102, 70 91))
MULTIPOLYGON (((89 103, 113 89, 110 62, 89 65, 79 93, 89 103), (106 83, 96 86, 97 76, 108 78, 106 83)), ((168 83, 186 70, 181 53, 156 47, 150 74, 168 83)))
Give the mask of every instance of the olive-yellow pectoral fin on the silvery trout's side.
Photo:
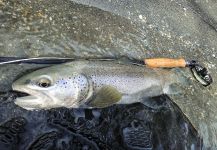
POLYGON ((93 99, 88 103, 91 107, 103 108, 120 101, 122 94, 112 86, 102 87, 93 99))

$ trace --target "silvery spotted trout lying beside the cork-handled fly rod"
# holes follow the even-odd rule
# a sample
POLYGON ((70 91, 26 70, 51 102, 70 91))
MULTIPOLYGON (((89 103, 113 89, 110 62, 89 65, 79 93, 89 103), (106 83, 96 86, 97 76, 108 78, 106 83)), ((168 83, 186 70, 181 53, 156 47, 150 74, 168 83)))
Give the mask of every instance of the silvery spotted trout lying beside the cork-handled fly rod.
POLYGON ((103 108, 168 94, 174 82, 177 76, 168 69, 81 60, 36 70, 15 81, 12 88, 29 94, 15 100, 27 110, 103 108))

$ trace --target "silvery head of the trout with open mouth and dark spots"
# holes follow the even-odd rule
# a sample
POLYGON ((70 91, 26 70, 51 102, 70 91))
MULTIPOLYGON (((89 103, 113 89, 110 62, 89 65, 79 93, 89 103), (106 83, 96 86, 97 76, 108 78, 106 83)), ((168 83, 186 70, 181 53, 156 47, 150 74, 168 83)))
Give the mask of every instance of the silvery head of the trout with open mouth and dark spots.
POLYGON ((27 110, 79 107, 89 93, 88 79, 69 72, 67 67, 55 66, 24 75, 12 84, 12 89, 29 96, 18 97, 15 104, 27 110))

